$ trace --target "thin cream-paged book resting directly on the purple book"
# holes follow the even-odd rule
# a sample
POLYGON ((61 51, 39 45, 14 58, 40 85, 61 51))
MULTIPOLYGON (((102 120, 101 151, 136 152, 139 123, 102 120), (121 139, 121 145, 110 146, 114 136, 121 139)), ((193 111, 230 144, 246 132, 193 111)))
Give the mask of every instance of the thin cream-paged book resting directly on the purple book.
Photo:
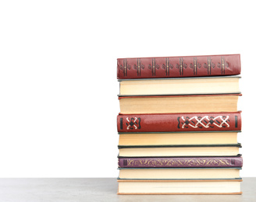
POLYGON ((133 145, 118 146, 120 157, 164 156, 234 156, 239 155, 237 144, 226 145, 133 145))

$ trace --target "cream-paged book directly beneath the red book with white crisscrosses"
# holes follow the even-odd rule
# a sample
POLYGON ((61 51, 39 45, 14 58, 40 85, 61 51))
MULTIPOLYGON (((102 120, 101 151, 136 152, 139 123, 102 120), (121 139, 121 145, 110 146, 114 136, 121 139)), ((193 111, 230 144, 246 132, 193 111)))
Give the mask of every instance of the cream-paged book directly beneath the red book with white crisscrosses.
POLYGON ((236 144, 236 131, 119 133, 119 145, 236 144))

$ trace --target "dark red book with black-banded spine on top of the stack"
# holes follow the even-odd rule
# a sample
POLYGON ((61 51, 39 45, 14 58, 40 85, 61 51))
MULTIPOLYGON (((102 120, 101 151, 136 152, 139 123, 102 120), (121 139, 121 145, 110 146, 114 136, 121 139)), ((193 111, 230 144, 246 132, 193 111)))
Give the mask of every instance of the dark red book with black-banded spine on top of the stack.
POLYGON ((118 58, 117 78, 239 75, 240 54, 118 58))

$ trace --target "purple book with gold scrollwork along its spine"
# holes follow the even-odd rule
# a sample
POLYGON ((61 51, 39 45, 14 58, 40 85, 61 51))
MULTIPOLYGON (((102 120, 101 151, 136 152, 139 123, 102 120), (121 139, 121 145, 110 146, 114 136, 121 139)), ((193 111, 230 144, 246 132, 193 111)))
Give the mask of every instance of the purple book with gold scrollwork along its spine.
POLYGON ((219 168, 243 166, 238 157, 119 158, 120 168, 219 168))

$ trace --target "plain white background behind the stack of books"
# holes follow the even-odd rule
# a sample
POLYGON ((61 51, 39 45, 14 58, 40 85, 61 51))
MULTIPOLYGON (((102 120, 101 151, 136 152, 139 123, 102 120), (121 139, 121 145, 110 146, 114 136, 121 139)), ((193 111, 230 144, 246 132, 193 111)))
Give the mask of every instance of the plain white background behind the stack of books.
POLYGON ((253 1, 1 1, 0 176, 117 177, 116 58, 241 54, 255 169, 253 1))

